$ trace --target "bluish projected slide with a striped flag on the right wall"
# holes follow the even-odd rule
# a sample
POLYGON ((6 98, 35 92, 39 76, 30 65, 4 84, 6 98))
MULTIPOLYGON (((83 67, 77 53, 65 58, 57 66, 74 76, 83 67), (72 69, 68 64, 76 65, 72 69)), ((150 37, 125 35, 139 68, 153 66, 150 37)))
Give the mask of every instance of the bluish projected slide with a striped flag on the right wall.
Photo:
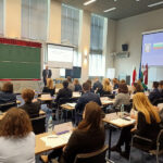
POLYGON ((163 32, 142 36, 142 65, 163 65, 163 32))

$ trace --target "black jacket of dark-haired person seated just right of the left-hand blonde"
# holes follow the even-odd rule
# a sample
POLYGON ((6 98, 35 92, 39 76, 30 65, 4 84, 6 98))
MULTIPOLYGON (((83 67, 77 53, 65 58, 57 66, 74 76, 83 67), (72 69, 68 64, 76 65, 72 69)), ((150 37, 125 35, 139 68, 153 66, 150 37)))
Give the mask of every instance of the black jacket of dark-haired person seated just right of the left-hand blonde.
POLYGON ((72 98, 73 91, 68 88, 62 88, 59 90, 55 102, 59 102, 61 98, 72 98))

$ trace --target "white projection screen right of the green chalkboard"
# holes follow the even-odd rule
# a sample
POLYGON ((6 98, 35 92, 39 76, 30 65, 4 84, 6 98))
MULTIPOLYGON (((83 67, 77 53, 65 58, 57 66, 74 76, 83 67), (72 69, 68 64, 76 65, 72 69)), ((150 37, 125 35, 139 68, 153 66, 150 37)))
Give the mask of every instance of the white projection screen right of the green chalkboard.
POLYGON ((48 45, 48 65, 50 67, 72 68, 73 47, 48 45))

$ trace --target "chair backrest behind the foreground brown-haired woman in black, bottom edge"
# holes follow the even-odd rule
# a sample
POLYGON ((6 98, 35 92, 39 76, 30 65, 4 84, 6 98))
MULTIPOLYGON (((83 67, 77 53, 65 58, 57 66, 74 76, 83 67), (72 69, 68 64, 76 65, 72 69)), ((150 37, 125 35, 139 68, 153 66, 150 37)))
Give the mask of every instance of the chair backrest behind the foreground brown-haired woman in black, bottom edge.
POLYGON ((77 154, 74 163, 105 163, 108 146, 91 153, 77 154))

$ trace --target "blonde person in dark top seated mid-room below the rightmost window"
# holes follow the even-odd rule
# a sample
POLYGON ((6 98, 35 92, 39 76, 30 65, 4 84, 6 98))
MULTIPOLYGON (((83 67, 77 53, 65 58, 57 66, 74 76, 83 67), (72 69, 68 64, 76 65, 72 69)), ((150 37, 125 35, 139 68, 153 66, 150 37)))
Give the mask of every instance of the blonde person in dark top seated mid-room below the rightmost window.
POLYGON ((112 86, 110 85, 109 78, 103 79, 102 90, 97 91, 97 93, 100 93, 100 96, 111 95, 112 92, 112 86))

